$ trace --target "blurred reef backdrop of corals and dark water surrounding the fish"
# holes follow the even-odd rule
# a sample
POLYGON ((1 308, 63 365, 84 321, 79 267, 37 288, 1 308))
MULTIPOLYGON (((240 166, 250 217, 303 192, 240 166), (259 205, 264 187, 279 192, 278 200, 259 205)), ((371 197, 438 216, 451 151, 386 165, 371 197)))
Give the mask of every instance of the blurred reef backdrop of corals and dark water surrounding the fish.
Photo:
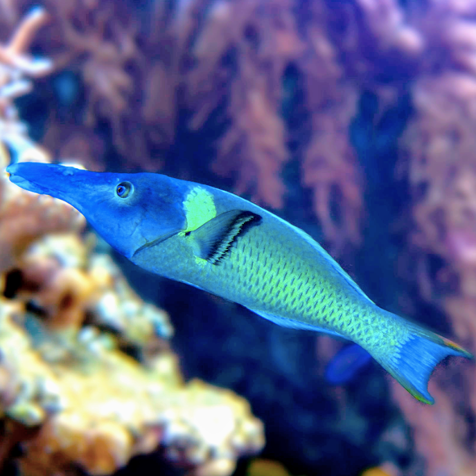
MULTIPOLYGON (((475 0, 0 0, 0 162, 160 172, 319 241, 476 351, 475 0)), ((473 476, 476 373, 134 267, 0 177, 3 475, 473 476)))

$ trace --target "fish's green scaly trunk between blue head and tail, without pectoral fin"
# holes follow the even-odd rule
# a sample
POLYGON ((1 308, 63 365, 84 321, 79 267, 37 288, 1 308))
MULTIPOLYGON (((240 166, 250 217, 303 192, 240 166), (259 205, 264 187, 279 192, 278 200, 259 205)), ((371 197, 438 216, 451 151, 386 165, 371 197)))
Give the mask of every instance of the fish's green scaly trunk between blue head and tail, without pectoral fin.
POLYGON ((132 262, 243 304, 286 327, 319 328, 371 346, 374 356, 405 341, 408 331, 398 325, 400 318, 373 304, 310 236, 238 196, 201 188, 219 203, 217 215, 246 209, 260 214, 261 223, 236 239, 218 264, 197 259, 193 234, 170 237, 132 262), (394 339, 384 338, 389 335, 394 339))

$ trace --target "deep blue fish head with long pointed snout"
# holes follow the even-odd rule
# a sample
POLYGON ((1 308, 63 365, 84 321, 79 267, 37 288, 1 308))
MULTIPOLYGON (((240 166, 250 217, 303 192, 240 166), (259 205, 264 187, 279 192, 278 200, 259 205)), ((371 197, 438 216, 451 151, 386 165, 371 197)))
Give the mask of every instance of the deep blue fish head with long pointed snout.
POLYGON ((186 228, 178 181, 165 175, 89 172, 27 162, 9 165, 7 172, 19 187, 73 205, 128 258, 186 228))

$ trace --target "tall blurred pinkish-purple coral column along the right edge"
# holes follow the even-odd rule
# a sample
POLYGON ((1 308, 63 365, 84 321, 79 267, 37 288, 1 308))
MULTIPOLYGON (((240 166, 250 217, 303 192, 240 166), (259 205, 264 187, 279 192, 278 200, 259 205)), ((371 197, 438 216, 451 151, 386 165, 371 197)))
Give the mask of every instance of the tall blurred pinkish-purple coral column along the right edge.
MULTIPOLYGON (((407 171, 414 228, 409 233, 422 297, 446 312, 460 342, 476 349, 476 4, 429 2, 414 12, 425 37, 424 73, 412 86, 415 114, 403 138, 400 172, 407 171)), ((394 388, 412 425, 428 476, 474 472, 475 438, 467 416, 476 404, 472 365, 446 369, 430 389, 432 411, 414 405, 394 388), (458 385, 455 386, 455 382, 458 385)))

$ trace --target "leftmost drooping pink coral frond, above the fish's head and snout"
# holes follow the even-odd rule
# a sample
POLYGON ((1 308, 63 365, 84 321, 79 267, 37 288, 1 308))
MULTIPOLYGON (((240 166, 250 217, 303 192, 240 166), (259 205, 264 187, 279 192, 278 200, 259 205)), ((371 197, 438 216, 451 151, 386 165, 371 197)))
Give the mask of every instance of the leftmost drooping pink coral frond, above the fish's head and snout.
POLYGON ((118 150, 131 159, 137 154, 145 156, 146 151, 138 150, 137 138, 134 146, 130 144, 134 113, 130 102, 138 95, 132 73, 143 65, 136 44, 137 24, 130 12, 123 12, 125 6, 113 1, 49 3, 54 33, 49 44, 55 66, 80 73, 86 86, 85 125, 94 127, 98 119, 107 120, 118 150))

